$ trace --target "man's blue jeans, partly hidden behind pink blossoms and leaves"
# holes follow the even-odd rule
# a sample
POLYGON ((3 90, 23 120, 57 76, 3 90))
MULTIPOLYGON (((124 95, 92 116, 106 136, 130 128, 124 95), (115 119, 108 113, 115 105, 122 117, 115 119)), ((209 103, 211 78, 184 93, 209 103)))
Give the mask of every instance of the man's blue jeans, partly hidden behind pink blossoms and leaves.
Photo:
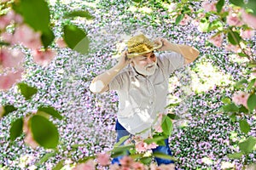
MULTIPOLYGON (((116 124, 115 124, 115 130, 117 132, 116 142, 119 142, 119 139, 122 138, 123 136, 131 135, 131 133, 126 131, 125 127, 123 127, 118 122, 118 120, 116 121, 116 124)), ((153 153, 154 152, 161 152, 161 153, 164 153, 164 154, 166 154, 168 156, 172 156, 172 151, 171 151, 171 149, 169 147, 168 139, 165 139, 165 143, 166 143, 166 145, 160 145, 160 146, 157 146, 155 149, 152 149, 153 153)), ((129 152, 127 152, 127 155, 129 155, 129 152)), ((121 160, 122 157, 123 156, 114 157, 113 160, 112 160, 112 164, 114 164, 114 163, 120 164, 119 160, 121 160)), ((158 166, 160 166, 160 164, 174 163, 174 161, 172 161, 172 160, 166 160, 166 159, 162 159, 162 158, 158 158, 158 157, 155 157, 154 160, 157 162, 158 166)))

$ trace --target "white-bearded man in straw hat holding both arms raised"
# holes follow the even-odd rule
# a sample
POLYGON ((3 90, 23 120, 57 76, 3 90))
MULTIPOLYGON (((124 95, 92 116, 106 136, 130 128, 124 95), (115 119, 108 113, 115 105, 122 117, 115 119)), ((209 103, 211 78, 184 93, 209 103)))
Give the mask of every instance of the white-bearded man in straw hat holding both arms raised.
MULTIPOLYGON (((131 37, 117 65, 95 77, 90 91, 103 93, 116 90, 119 95, 119 111, 115 130, 117 142, 126 135, 147 138, 148 129, 154 126, 158 113, 166 113, 168 80, 173 71, 194 61, 199 51, 188 45, 168 42, 157 38, 154 42, 143 34, 131 37), (156 56, 155 51, 166 51, 156 56)), ((172 156, 168 139, 166 145, 158 146, 153 152, 172 156)), ((119 163, 120 156, 113 158, 119 163)), ((171 160, 155 158, 157 164, 171 164, 171 160)))

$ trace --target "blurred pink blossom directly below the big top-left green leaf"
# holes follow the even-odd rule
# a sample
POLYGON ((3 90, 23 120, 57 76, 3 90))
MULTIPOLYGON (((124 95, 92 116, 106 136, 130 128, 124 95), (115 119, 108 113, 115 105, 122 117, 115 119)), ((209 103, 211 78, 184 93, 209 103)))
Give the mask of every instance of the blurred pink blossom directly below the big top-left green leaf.
POLYGON ((13 43, 20 42, 27 48, 38 49, 41 48, 41 33, 35 32, 31 27, 21 25, 16 28, 13 43))

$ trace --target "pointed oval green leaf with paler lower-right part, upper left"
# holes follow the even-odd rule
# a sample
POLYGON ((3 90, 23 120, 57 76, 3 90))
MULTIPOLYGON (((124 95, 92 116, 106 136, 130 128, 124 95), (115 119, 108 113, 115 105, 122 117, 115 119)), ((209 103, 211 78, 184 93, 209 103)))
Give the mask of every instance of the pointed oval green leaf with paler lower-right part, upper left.
POLYGON ((89 39, 87 34, 77 26, 64 26, 64 40, 69 48, 87 54, 89 49, 89 39))

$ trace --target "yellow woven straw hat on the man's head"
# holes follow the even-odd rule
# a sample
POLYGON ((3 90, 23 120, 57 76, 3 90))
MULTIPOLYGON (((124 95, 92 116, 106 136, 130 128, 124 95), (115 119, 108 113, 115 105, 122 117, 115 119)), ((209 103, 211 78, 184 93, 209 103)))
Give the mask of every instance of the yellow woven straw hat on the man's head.
POLYGON ((161 48, 162 44, 156 44, 154 42, 150 42, 147 37, 143 34, 131 37, 131 39, 127 42, 128 47, 128 58, 137 57, 143 54, 147 54, 155 49, 161 48))

